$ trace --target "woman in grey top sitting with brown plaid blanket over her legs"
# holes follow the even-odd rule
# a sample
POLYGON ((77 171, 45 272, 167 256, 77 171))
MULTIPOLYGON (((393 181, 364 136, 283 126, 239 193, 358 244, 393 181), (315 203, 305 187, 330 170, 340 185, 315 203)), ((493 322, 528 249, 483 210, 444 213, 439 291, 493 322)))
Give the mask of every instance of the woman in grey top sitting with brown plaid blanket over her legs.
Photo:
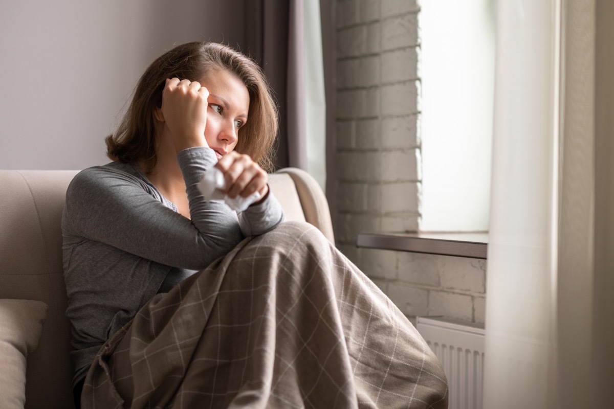
POLYGON ((229 47, 180 45, 142 75, 113 162, 66 194, 77 404, 446 406, 406 318, 316 229, 282 223, 276 131, 262 72, 229 47), (239 213, 204 199, 212 167, 228 197, 260 199, 239 213))

